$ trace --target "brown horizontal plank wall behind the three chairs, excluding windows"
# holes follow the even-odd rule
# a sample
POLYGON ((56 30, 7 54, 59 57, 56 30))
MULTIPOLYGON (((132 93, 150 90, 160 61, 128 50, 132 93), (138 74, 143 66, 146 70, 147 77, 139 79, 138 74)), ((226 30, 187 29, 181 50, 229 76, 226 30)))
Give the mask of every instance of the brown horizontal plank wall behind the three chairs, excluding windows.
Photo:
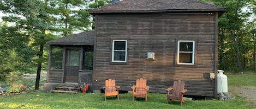
POLYGON ((185 82, 187 95, 214 97, 215 21, 212 14, 98 15, 94 89, 115 79, 130 91, 137 78, 147 79, 150 92, 166 93, 174 80, 185 82), (128 39, 128 64, 110 62, 111 39, 128 39), (175 65, 176 40, 196 40, 196 66, 175 65), (155 60, 147 60, 147 52, 155 60))

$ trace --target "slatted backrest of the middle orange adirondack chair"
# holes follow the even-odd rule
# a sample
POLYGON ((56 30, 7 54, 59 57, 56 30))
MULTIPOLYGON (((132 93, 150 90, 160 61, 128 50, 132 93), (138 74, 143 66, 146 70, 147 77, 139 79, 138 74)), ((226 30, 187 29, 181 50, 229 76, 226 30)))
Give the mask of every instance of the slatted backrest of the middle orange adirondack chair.
POLYGON ((147 80, 140 78, 136 80, 136 93, 146 93, 147 80))

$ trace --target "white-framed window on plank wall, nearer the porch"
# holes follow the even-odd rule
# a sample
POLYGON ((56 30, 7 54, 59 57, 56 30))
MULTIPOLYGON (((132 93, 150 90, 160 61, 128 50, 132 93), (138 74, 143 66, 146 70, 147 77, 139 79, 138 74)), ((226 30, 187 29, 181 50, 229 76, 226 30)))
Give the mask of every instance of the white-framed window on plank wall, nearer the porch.
POLYGON ((127 40, 113 40, 112 62, 127 62, 127 40))

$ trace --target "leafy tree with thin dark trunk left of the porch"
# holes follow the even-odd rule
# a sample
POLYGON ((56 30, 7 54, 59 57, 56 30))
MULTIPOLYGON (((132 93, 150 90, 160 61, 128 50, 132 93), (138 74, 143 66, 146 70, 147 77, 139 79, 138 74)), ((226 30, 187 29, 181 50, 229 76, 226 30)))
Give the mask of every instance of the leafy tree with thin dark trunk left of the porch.
POLYGON ((23 36, 28 37, 35 52, 39 47, 39 52, 35 53, 35 55, 38 56, 38 59, 34 60, 38 66, 37 80, 35 84, 35 89, 38 89, 41 63, 45 61, 45 59, 43 59, 44 43, 52 39, 51 34, 45 34, 46 30, 51 29, 51 22, 49 22, 50 17, 45 11, 47 1, 5 0, 1 2, 1 10, 9 15, 8 17, 5 17, 4 20, 13 22, 20 29, 20 31, 16 31, 16 33, 24 32, 23 36))

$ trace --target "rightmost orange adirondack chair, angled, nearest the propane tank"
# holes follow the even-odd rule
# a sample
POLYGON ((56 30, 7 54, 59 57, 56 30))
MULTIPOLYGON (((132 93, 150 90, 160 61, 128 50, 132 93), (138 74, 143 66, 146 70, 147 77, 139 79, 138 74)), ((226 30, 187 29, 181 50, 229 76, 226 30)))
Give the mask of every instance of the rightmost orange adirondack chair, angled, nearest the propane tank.
POLYGON ((184 99, 183 99, 183 94, 185 92, 187 92, 187 89, 184 89, 185 83, 178 80, 178 81, 174 81, 174 86, 165 89, 165 91, 167 92, 167 100, 166 103, 168 104, 169 100, 175 99, 175 100, 180 100, 181 101, 181 105, 182 103, 184 103, 184 99), (172 90, 172 94, 170 95, 170 91, 172 90))

